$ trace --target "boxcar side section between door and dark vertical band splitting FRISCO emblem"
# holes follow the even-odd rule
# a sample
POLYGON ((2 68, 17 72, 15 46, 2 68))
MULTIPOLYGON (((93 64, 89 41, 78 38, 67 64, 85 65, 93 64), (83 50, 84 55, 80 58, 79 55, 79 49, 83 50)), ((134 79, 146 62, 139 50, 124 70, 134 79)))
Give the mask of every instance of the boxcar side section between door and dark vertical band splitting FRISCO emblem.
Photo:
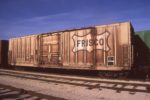
MULTIPOLYGON (((88 52, 86 50, 88 41, 81 43, 82 39, 88 40, 88 38, 93 37, 93 35, 90 34, 91 31, 91 29, 81 29, 67 31, 61 34, 63 49, 62 64, 64 66, 82 68, 90 67, 92 65, 93 60, 91 57, 93 58, 93 52, 88 52), (83 50, 81 50, 81 48, 83 50)), ((88 49, 91 50, 92 47, 89 47, 88 49)))

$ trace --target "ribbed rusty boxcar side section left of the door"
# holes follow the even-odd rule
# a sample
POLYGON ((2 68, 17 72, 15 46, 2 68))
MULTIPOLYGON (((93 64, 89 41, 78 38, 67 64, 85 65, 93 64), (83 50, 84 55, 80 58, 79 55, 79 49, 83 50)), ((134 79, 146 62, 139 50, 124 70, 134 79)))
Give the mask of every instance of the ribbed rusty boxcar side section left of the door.
POLYGON ((9 40, 9 63, 18 66, 34 66, 37 36, 25 36, 9 40))

